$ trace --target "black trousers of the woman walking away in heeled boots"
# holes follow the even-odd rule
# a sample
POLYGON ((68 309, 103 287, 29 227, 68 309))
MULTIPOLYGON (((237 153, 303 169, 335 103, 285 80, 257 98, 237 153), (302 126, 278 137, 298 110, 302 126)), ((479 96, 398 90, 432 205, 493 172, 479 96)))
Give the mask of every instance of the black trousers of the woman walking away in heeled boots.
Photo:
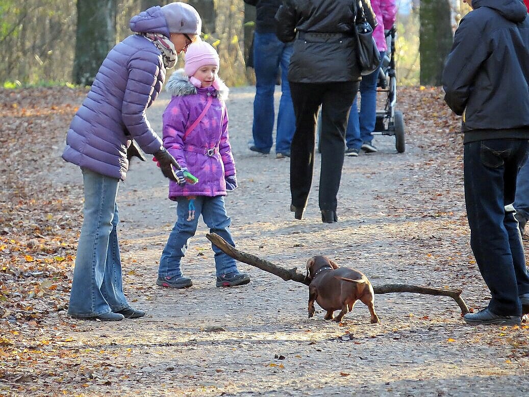
POLYGON ((320 210, 336 211, 345 155, 345 129, 359 82, 294 83, 290 93, 296 114, 296 132, 290 145, 292 204, 307 205, 314 173, 316 120, 322 106, 320 151, 320 210))

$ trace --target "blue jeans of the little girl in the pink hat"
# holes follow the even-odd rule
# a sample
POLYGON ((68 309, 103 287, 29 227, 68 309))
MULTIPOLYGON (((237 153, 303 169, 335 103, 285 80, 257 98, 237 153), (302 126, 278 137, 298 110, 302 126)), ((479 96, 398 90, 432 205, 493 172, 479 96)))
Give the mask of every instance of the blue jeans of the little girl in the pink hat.
MULTIPOLYGON (((193 202, 195 205, 195 218, 188 220, 188 198, 182 197, 177 200, 176 213, 178 219, 169 234, 165 248, 163 248, 160 266, 158 267, 158 275, 160 277, 176 276, 179 278, 182 276, 180 269, 181 260, 186 255, 189 239, 195 236, 200 214, 202 214, 202 219, 209 228, 210 233, 217 233, 227 243, 235 246, 230 233, 231 219, 227 216, 224 206, 224 196, 196 196, 193 202)), ((224 254, 213 243, 211 247, 215 252, 217 276, 238 271, 235 259, 224 254)))

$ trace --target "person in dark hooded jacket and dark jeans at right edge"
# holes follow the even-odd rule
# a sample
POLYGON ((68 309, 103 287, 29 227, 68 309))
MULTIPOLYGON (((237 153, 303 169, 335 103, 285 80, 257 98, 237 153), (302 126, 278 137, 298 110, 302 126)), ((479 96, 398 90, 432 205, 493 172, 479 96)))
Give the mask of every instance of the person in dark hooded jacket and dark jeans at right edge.
POLYGON ((522 0, 466 0, 443 71, 445 101, 462 115, 470 246, 489 287, 471 324, 521 323, 529 275, 513 202, 529 139, 529 18, 522 0))

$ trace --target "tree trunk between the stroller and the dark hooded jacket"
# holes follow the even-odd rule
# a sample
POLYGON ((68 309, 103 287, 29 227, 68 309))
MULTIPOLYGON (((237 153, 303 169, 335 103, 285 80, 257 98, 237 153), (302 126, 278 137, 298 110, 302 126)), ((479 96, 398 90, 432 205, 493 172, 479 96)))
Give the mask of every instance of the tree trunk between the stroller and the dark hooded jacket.
POLYGON ((453 43, 449 0, 421 0, 419 53, 422 85, 441 85, 444 61, 453 43))

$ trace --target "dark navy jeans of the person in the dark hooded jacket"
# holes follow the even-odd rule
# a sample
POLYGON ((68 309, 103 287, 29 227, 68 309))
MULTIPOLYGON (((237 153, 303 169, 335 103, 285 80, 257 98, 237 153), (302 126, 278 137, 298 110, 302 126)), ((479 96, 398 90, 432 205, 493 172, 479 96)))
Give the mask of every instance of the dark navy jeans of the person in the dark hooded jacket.
POLYGON ((522 236, 514 218, 516 177, 527 141, 490 139, 464 145, 464 193, 470 246, 489 287, 489 309, 521 315, 518 295, 529 293, 522 236))

